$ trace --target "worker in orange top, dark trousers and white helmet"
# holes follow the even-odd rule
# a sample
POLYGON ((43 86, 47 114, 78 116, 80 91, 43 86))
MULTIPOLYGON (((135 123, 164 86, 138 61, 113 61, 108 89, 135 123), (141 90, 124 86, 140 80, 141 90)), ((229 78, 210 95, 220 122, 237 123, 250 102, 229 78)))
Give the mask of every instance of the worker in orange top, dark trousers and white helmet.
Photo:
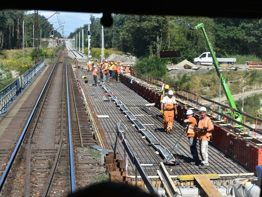
POLYGON ((190 152, 193 155, 193 163, 194 165, 198 166, 201 164, 198 152, 197 152, 197 131, 195 126, 197 126, 197 120, 193 117, 193 111, 188 109, 186 111, 187 119, 184 120, 185 123, 190 123, 186 129, 186 136, 188 137, 190 152))

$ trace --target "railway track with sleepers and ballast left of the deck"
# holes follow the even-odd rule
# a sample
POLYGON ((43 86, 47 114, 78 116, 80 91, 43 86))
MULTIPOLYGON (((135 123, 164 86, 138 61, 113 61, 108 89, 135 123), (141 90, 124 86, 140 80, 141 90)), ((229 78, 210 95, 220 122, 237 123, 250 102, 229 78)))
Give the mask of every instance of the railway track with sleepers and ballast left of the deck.
POLYGON ((62 51, 46 83, 46 91, 42 91, 39 105, 31 115, 32 120, 21 127, 22 145, 18 145, 17 138, 18 143, 14 141, 15 150, 13 147, 0 152, 3 161, 0 168, 3 171, 1 196, 65 196, 75 188, 80 189, 92 183, 90 177, 95 176, 98 161, 90 161, 93 155, 87 146, 95 145, 96 140, 66 57, 66 51, 62 51), (69 88, 66 88, 66 67, 69 88), (66 106, 66 94, 71 95, 68 98, 69 108, 66 106), (72 126, 67 121, 68 111, 72 126), (72 134, 67 133, 69 127, 72 128, 72 134), (69 135, 72 136, 73 145, 68 145, 69 135), (71 149, 74 152, 69 153, 71 149), (12 151, 15 156, 10 159, 12 151), (71 168, 74 165, 73 158, 76 166, 71 168), (6 166, 10 169, 7 170, 6 166), (88 171, 90 174, 86 175, 88 171))

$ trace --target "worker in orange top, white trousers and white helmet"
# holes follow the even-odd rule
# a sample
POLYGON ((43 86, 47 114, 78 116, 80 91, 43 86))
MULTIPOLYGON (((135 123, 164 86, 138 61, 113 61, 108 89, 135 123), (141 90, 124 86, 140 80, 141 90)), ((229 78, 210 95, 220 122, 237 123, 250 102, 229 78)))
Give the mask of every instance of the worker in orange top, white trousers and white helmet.
POLYGON ((199 168, 208 168, 208 142, 210 141, 210 137, 212 136, 212 131, 214 129, 213 123, 211 119, 207 116, 206 107, 202 106, 200 108, 200 120, 198 122, 198 128, 202 129, 202 131, 197 132, 197 139, 199 140, 199 149, 200 155, 202 158, 202 166, 199 168))

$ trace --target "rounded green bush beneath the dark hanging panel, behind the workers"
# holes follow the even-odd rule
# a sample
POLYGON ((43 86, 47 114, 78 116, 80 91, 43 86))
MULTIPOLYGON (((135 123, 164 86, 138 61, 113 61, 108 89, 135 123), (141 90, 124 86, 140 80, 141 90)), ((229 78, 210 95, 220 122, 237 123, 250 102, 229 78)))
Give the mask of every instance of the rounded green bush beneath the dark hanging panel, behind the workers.
POLYGON ((138 75, 148 74, 149 76, 162 77, 167 73, 167 60, 159 59, 157 55, 152 57, 138 58, 133 66, 138 75))

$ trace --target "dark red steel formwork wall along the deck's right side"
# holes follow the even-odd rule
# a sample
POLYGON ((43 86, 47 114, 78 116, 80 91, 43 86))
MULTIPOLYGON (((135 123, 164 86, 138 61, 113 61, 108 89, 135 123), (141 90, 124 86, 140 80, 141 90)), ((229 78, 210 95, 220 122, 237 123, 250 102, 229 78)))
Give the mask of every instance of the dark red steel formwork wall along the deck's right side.
MULTIPOLYGON (((121 75, 120 80, 149 102, 155 103, 155 106, 160 107, 161 93, 136 81, 136 79, 131 76, 121 75)), ((198 109, 182 102, 178 103, 177 121, 181 122, 185 119, 187 109, 192 109, 196 114, 196 118, 199 118, 198 109)), ((240 131, 237 131, 234 127, 225 125, 223 122, 220 122, 211 116, 210 118, 214 124, 212 144, 229 155, 230 158, 242 164, 243 167, 256 172, 256 166, 262 165, 261 141, 252 137, 251 139, 249 138, 250 136, 240 133, 240 131)))

